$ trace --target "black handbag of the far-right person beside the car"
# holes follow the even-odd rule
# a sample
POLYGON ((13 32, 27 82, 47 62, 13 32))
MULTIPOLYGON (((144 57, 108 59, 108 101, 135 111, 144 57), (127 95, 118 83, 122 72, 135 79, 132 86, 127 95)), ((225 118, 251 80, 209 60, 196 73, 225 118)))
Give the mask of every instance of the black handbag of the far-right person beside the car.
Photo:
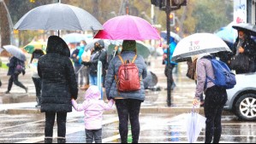
POLYGON ((248 71, 250 67, 250 58, 247 55, 235 55, 231 59, 230 68, 232 70, 248 71))

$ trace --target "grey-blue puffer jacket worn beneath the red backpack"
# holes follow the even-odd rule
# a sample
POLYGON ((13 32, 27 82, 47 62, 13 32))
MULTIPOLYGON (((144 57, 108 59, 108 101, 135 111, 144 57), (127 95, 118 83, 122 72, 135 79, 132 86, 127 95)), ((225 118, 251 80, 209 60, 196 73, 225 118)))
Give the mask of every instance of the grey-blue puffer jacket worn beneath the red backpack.
MULTIPOLYGON (((135 53, 134 52, 123 52, 121 54, 123 60, 133 60, 135 53)), ((139 68, 140 78, 145 79, 147 75, 145 60, 141 55, 138 55, 137 59, 134 62, 136 66, 139 68)), ((115 76, 117 76, 119 66, 122 65, 121 60, 116 56, 113 60, 110 61, 110 66, 106 75, 106 95, 107 98, 115 99, 123 98, 123 99, 135 99, 140 101, 145 101, 145 89, 144 84, 140 82, 140 90, 128 93, 119 93, 116 88, 116 80, 115 76)))

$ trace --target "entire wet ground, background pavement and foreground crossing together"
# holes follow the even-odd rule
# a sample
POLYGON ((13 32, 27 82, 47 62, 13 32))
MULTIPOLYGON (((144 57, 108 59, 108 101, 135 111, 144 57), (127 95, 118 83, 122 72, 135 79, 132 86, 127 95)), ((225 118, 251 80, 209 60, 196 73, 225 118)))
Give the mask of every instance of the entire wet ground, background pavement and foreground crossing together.
MULTIPOLYGON (((3 60, 4 61, 4 60, 3 60)), ((166 78, 161 58, 152 60, 148 69, 158 76, 160 91, 146 91, 146 101, 140 113, 140 142, 143 143, 184 143, 187 142, 186 112, 191 109, 195 84, 185 77, 187 68, 182 64, 175 74, 176 89, 172 92, 172 107, 166 107, 166 78), (187 108, 187 109, 186 109, 187 108), (183 111, 182 111, 183 110, 183 111)), ((20 77, 22 83, 29 87, 29 94, 14 86, 11 95, 4 95, 7 89, 8 77, 6 70, 0 70, 3 87, 0 88, 0 143, 39 143, 44 142, 45 114, 35 108, 35 89, 27 70, 25 77, 20 77)), ((79 102, 83 101, 83 90, 80 90, 79 102)), ((118 118, 115 107, 113 111, 104 113, 103 142, 120 143, 118 118)), ((200 111, 202 114, 203 112, 200 111)), ((232 114, 223 115, 223 136, 221 142, 254 143, 256 142, 256 123, 241 122, 232 114)), ((204 142, 205 131, 199 136, 199 142, 204 142)), ((57 141, 57 125, 54 130, 57 141)), ((131 135, 129 139, 131 142, 131 135)), ((67 142, 85 143, 86 135, 83 123, 83 112, 68 113, 67 142)))

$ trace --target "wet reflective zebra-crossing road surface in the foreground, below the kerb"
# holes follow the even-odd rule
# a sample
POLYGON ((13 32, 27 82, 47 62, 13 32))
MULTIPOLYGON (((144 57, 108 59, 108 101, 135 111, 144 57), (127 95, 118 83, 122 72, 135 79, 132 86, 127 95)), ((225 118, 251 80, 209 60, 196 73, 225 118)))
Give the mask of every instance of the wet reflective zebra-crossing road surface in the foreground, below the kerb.
MULTIPOLYGON (((187 141, 186 113, 178 116, 170 114, 141 114, 141 143, 182 143, 187 141)), ((5 142, 44 142, 45 116, 39 115, 0 115, 0 143, 5 142)), ((105 115, 103 128, 104 143, 120 143, 117 116, 105 115)), ((240 122, 233 116, 223 117, 223 135, 221 142, 256 142, 256 124, 240 122)), ((57 126, 54 135, 57 137, 57 126)), ((204 142, 205 130, 202 130, 198 141, 204 142)), ((132 140, 129 134, 129 141, 132 140)), ((55 140, 56 141, 56 140, 55 140)), ((85 143, 82 113, 68 114, 67 142, 85 143)))

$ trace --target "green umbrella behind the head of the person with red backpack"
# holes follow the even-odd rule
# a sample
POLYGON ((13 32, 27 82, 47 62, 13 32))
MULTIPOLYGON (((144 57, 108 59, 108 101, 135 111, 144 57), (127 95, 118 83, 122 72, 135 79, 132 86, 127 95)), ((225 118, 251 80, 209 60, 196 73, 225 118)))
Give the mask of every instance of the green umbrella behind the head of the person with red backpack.
MULTIPOLYGON (((117 45, 121 45, 117 44, 117 45)), ((115 50, 116 44, 110 44, 108 48, 108 54, 111 55, 113 54, 113 51, 115 50)), ((147 46, 145 43, 142 43, 140 41, 136 41, 136 47, 137 47, 137 54, 143 56, 144 59, 148 58, 148 56, 151 54, 149 46, 147 46)))

